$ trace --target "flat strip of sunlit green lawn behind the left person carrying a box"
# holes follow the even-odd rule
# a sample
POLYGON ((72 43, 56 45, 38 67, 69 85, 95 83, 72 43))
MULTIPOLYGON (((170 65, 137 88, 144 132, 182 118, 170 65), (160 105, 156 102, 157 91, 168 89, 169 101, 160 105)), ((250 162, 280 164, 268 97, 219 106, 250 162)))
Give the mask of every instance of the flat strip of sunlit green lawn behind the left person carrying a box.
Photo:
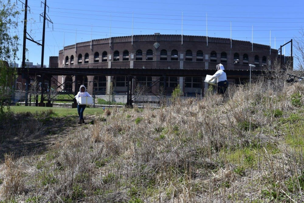
MULTIPOLYGON (((77 108, 64 108, 64 107, 38 107, 38 106, 10 106, 11 111, 14 113, 24 113, 24 112, 41 112, 47 111, 48 109, 52 109, 53 112, 61 117, 61 116, 70 116, 77 115, 77 108)), ((6 107, 5 107, 6 109, 6 107)), ((85 108, 84 115, 100 115, 103 114, 102 108, 85 108)))

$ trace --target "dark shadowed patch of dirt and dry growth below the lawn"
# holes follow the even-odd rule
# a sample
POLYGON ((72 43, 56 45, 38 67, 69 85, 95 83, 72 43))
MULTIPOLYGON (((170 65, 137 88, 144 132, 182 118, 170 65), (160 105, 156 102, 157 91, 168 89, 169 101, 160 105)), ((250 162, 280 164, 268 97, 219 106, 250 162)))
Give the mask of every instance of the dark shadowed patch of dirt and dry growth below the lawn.
MULTIPOLYGON (((82 125, 92 125, 95 121, 95 115, 86 115, 84 119, 85 124, 82 125)), ((78 117, 76 116, 54 118, 46 123, 38 123, 36 131, 31 127, 33 132, 28 130, 29 125, 35 126, 36 124, 32 119, 21 122, 23 122, 22 126, 24 127, 20 128, 20 125, 15 125, 18 129, 12 130, 14 132, 12 135, 5 137, 5 139, 0 136, 0 164, 4 162, 6 155, 18 159, 22 156, 41 154, 49 150, 55 143, 66 139, 75 128, 81 127, 77 123, 78 117)), ((5 127, 7 126, 2 125, 0 132, 5 127)), ((10 127, 14 128, 14 125, 10 127)))

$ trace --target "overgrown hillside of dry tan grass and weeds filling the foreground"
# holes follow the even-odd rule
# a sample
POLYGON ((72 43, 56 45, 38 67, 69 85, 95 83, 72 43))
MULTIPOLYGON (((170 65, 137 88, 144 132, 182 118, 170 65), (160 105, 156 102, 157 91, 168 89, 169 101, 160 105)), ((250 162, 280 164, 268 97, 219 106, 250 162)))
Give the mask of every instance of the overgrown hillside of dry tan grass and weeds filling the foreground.
POLYGON ((304 202, 304 83, 0 119, 0 202, 304 202))

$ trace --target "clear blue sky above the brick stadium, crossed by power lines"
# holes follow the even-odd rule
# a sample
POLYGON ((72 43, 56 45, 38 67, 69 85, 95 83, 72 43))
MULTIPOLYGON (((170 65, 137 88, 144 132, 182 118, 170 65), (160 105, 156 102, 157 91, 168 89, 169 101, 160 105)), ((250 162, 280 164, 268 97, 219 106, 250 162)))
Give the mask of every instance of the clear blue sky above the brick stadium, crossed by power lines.
MULTIPOLYGON (((23 0, 22 2, 25 2, 23 0)), ((44 0, 43 0, 44 3, 44 0)), ((28 0, 27 32, 42 40, 43 4, 28 0)), ((58 56, 63 45, 91 39, 140 34, 183 34, 223 37, 269 45, 278 49, 291 39, 303 37, 304 1, 169 1, 169 0, 100 0, 47 1, 44 64, 50 56, 58 56), (132 29, 133 27, 133 29, 132 29)), ((18 1, 18 8, 22 4, 18 1)), ((23 20, 20 15, 19 22, 23 20)), ((17 31, 22 44, 23 23, 17 31)), ((42 41, 39 41, 40 43, 42 41)), ((41 46, 27 40, 26 58, 41 63, 41 46)), ((293 50, 293 55, 296 50, 293 50)), ((290 56, 290 43, 282 49, 290 56)), ((22 61, 22 46, 18 54, 22 61)))

